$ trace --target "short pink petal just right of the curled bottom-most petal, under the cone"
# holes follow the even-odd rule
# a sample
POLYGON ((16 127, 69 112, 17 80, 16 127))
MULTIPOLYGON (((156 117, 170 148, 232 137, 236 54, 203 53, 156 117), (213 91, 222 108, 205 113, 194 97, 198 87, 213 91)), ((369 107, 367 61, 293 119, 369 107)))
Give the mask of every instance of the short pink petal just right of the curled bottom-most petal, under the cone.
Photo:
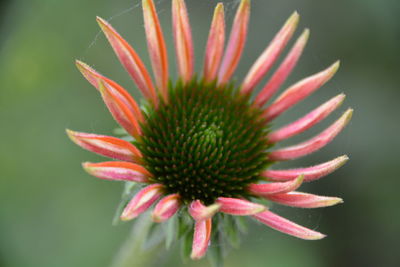
POLYGON ((216 202, 221 205, 221 212, 232 215, 247 216, 266 210, 261 204, 239 198, 219 197, 216 202))

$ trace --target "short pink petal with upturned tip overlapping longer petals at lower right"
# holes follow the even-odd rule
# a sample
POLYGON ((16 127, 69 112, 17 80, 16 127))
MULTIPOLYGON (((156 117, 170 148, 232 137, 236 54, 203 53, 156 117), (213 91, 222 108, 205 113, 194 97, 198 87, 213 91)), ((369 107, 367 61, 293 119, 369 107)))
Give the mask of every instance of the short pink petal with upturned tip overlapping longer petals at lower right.
POLYGON ((248 187, 248 191, 256 196, 265 196, 272 194, 282 194, 287 193, 293 190, 296 190, 300 187, 303 182, 304 175, 299 175, 296 179, 288 181, 288 182, 276 182, 276 183, 268 183, 268 184, 250 184, 248 187))

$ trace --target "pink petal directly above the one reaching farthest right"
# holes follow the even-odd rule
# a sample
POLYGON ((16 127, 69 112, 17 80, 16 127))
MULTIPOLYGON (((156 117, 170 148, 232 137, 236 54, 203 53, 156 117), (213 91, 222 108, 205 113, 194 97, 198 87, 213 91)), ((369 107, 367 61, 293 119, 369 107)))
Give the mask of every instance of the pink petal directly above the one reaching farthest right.
POLYGON ((322 104, 318 108, 314 109, 304 117, 298 119, 295 122, 286 125, 279 130, 276 130, 268 135, 268 141, 271 143, 277 143, 279 141, 288 139, 299 133, 306 131, 318 122, 325 119, 329 114, 331 114, 337 107, 342 104, 345 98, 344 94, 340 94, 328 102, 322 104))

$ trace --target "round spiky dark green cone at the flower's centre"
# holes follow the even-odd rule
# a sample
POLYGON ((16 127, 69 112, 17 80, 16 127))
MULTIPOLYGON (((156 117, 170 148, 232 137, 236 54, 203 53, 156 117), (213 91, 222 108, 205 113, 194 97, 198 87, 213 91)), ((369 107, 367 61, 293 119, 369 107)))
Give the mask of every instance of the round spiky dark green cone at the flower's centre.
POLYGON ((166 193, 184 202, 246 197, 268 164, 267 125, 261 110, 233 86, 193 80, 169 89, 169 102, 147 109, 137 146, 166 193))

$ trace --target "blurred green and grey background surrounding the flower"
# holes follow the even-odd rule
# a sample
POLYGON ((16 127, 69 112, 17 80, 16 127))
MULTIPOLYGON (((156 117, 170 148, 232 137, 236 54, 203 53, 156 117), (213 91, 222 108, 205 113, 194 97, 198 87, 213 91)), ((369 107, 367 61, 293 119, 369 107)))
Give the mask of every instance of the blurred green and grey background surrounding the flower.
MULTIPOLYGON (((131 224, 112 226, 121 183, 86 174, 82 161, 101 161, 72 144, 65 128, 110 134, 116 123, 74 66, 81 59, 138 90, 119 65, 95 22, 100 15, 126 37, 149 66, 139 0, 0 1, 0 266, 108 266, 131 224)), ((200 70, 214 0, 187 0, 200 70)), ((230 25, 238 1, 224 1, 230 25)), ((288 218, 328 234, 307 242, 250 222, 226 266, 398 266, 400 262, 399 60, 397 0, 253 0, 249 37, 238 80, 285 19, 297 10, 311 38, 287 85, 341 59, 341 69, 320 91, 282 116, 287 123, 329 97, 345 92, 349 126, 320 152, 283 166, 307 166, 338 155, 350 161, 305 191, 340 196, 332 208, 274 206, 288 218)), ((158 1, 170 59, 170 1, 158 1)), ((172 60, 171 60, 172 61, 172 60)), ((172 73, 175 73, 175 66, 172 73)), ((175 74, 174 74, 175 75, 175 74)), ((161 255, 161 256, 160 256, 161 255)), ((181 266, 174 248, 154 266, 181 266)), ((206 261, 185 266, 207 266, 206 261)))

